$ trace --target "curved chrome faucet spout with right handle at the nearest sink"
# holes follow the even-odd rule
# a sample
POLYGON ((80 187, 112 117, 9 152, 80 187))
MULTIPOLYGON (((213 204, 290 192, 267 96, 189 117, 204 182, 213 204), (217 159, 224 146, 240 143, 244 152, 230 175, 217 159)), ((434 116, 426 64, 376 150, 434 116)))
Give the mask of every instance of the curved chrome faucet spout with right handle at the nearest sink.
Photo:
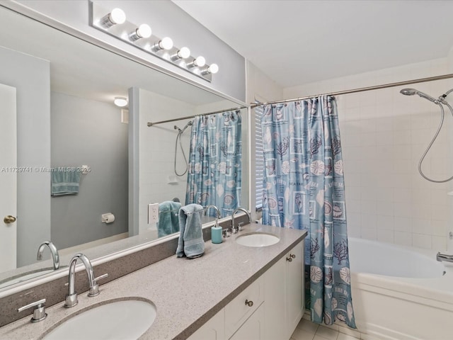
POLYGON ((80 260, 84 263, 86 275, 88 275, 88 284, 90 285, 90 291, 88 296, 99 295, 99 285, 96 280, 105 278, 108 274, 94 278, 93 266, 91 265, 90 260, 84 254, 75 254, 74 257, 69 262, 69 283, 68 283, 68 295, 66 295, 66 301, 64 302, 64 307, 74 307, 79 302, 77 300, 77 293, 75 288, 75 276, 76 276, 76 264, 80 260))

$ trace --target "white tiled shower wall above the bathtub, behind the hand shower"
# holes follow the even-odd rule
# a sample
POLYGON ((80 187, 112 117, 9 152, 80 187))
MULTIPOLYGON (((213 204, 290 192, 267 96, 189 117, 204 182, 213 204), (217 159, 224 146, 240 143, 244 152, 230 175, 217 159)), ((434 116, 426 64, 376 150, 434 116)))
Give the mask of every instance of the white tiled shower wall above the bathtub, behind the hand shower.
MULTIPOLYGON (((447 73, 445 58, 297 86, 285 89, 284 96, 297 98, 447 73)), ((418 174, 418 161, 437 130, 440 108, 419 96, 401 95, 403 87, 437 98, 453 82, 430 81, 337 97, 348 232, 353 237, 445 251, 452 210, 452 198, 447 196, 450 184, 431 183, 418 174)), ((449 97, 453 103, 453 94, 449 97)), ((423 162, 423 171, 433 179, 453 175, 447 131, 453 132, 448 110, 444 128, 423 162)))

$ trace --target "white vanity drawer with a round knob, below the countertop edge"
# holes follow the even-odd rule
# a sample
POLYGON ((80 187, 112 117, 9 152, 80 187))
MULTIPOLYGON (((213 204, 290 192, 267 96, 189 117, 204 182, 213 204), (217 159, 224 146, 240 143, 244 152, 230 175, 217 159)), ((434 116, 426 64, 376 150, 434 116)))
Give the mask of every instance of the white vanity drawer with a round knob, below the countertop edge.
POLYGON ((225 306, 226 339, 229 339, 241 327, 243 322, 251 316, 263 300, 263 276, 261 276, 225 306))

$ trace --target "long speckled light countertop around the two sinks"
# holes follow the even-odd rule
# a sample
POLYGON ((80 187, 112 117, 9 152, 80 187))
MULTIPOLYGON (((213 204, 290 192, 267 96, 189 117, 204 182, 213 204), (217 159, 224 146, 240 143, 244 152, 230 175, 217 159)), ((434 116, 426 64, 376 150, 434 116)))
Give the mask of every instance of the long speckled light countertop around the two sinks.
POLYGON ((224 238, 222 244, 206 242, 205 254, 198 259, 175 255, 105 285, 101 282, 100 295, 87 297, 81 293, 79 304, 72 308, 64 308, 63 302, 48 307, 48 316, 42 322, 32 324, 28 315, 7 324, 0 328, 0 339, 39 339, 72 314, 108 300, 130 297, 156 305, 156 319, 140 339, 186 339, 305 235, 305 230, 246 225, 239 234, 224 238), (238 235, 258 230, 277 235, 280 242, 260 248, 234 242, 238 235))

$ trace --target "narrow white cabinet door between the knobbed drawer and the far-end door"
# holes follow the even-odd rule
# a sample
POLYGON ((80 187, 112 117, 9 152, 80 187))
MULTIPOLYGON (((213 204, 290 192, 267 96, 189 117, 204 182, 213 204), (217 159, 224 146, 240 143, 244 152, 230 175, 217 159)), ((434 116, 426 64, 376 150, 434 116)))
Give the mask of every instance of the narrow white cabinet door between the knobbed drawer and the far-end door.
POLYGON ((289 339, 287 335, 285 276, 287 256, 266 271, 264 276, 265 340, 289 339))

